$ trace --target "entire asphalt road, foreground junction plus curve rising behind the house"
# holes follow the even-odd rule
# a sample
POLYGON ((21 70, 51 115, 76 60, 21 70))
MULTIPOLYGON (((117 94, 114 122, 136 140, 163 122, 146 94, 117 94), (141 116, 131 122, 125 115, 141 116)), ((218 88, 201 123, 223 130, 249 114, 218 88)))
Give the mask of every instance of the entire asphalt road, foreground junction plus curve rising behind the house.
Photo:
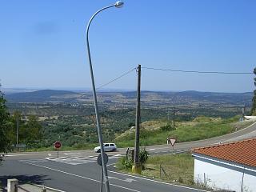
MULTIPOLYGON (((256 124, 233 134, 218 138, 210 138, 196 142, 184 142, 174 145, 146 146, 150 154, 182 153, 184 150, 198 146, 210 146, 219 142, 231 142, 244 138, 256 137, 256 124)), ((108 173, 111 191, 203 191, 186 186, 176 186, 133 175, 120 174, 112 166, 125 154, 126 149, 108 153, 108 173)), ((8 154, 0 166, 0 179, 18 178, 22 182, 33 182, 49 186, 58 191, 94 192, 100 189, 101 167, 97 164, 97 156, 93 150, 61 151, 57 158, 55 151, 38 153, 8 154)), ((4 183, 5 184, 5 183, 4 183)), ((104 189, 104 186, 103 186, 104 189)), ((104 191, 104 190, 103 190, 104 191)))

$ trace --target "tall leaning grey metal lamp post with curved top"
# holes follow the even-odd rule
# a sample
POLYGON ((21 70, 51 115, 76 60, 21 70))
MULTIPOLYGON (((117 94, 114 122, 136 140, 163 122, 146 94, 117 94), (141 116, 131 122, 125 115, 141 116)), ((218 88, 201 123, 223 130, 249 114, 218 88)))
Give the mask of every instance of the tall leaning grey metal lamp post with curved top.
POLYGON ((104 148, 103 148, 103 142, 102 142, 102 127, 100 126, 100 121, 99 121, 99 115, 98 115, 98 102, 97 102, 97 95, 96 95, 96 89, 95 89, 95 83, 94 83, 94 72, 93 72, 93 66, 91 63, 91 57, 90 57, 90 46, 89 46, 89 28, 90 28, 90 23, 94 19, 94 17, 101 12, 102 10, 106 10, 111 7, 117 7, 121 8, 123 6, 123 2, 118 1, 114 5, 111 6, 105 6, 102 9, 98 10, 91 18, 90 21, 88 22, 87 28, 86 28, 86 45, 87 45, 87 51, 88 51, 88 60, 90 64, 90 78, 91 78, 91 83, 93 87, 93 97, 94 97, 94 109, 95 109, 95 115, 96 115, 96 122, 97 122, 97 129, 98 129, 98 142, 101 147, 101 157, 102 157, 102 170, 103 174, 105 177, 105 186, 106 186, 106 192, 110 191, 110 183, 109 183, 109 178, 107 175, 107 170, 106 170, 106 163, 103 161, 103 154, 104 154, 104 148))

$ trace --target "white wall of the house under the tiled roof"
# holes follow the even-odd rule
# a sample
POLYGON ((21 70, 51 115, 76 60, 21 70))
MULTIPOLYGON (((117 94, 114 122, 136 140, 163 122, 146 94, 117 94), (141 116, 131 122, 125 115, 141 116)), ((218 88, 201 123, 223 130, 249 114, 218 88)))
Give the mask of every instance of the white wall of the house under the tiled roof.
POLYGON ((238 164, 222 162, 216 159, 194 156, 194 182, 213 189, 256 192, 256 167, 244 168, 238 164), (205 175, 205 176, 204 176, 205 175))

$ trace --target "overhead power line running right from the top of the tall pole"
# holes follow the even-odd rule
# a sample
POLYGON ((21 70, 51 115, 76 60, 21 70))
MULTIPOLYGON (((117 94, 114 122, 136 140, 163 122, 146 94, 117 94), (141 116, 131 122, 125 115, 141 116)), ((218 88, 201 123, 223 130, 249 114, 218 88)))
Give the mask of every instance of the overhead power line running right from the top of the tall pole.
POLYGON ((182 72, 182 73, 196 73, 196 74, 254 74, 252 72, 224 72, 224 71, 199 71, 199 70, 171 70, 171 69, 162 69, 162 68, 153 68, 142 66, 146 70, 164 70, 172 72, 182 72))

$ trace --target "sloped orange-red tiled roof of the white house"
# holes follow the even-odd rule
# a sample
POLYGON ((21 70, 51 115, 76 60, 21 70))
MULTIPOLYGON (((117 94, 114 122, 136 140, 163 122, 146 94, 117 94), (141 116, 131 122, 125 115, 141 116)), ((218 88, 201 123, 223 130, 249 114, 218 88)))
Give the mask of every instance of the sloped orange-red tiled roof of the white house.
POLYGON ((204 154, 210 157, 256 167, 256 138, 230 142, 218 146, 200 147, 193 149, 192 153, 204 154))

